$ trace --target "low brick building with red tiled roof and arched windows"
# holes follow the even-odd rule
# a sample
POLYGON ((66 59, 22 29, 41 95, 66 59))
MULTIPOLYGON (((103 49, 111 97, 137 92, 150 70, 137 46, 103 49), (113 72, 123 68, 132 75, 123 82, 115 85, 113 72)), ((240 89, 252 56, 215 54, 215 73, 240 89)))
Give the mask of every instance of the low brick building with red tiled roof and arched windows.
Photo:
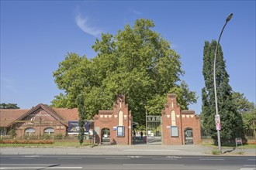
POLYGON ((66 135, 68 121, 78 120, 78 109, 52 108, 38 104, 32 109, 1 109, 0 134, 6 135, 16 129, 17 138, 43 136, 43 134, 66 135))

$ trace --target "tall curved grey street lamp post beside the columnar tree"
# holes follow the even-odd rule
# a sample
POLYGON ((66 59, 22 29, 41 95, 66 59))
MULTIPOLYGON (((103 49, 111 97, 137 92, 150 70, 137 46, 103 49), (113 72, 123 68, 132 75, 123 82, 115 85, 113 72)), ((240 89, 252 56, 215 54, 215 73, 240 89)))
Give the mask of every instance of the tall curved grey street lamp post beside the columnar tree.
MULTIPOLYGON (((233 13, 231 13, 230 15, 227 16, 226 19, 226 23, 223 26, 223 29, 220 32, 220 36, 216 45, 216 50, 215 50, 215 56, 214 56, 214 64, 213 64, 213 83, 214 83, 214 96, 215 96, 215 107, 216 107, 216 116, 219 117, 219 112, 218 112, 218 100, 217 100, 217 92, 216 92, 216 56, 217 56, 217 50, 218 50, 218 46, 219 46, 219 42, 220 42, 220 37, 222 35, 223 30, 225 29, 225 26, 227 25, 227 22, 230 21, 230 19, 232 18, 233 13)), ((220 123, 220 122, 219 122, 220 123)), ((217 135, 218 135, 218 148, 219 151, 221 153, 221 144, 220 144, 220 129, 217 128, 217 135)))

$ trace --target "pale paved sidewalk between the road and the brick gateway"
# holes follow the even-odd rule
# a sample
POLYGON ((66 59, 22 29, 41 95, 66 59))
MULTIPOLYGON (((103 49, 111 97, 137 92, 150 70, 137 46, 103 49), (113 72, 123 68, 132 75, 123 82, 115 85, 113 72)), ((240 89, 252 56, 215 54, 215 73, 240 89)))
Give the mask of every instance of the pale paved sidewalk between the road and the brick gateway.
MULTIPOLYGON (((99 145, 66 148, 0 148, 0 155, 212 155, 213 148, 202 145, 99 145)), ((241 150, 223 149, 224 155, 239 155, 241 150)), ((255 149, 243 155, 255 156, 255 149)))

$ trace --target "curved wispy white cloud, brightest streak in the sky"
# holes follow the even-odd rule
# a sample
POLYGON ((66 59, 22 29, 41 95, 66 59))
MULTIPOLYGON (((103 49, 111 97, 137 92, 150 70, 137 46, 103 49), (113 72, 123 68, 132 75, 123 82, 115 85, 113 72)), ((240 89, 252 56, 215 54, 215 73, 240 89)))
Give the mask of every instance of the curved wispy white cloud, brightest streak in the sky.
POLYGON ((83 32, 88 33, 92 36, 99 37, 102 33, 101 29, 92 26, 92 24, 89 23, 88 17, 84 17, 81 14, 76 15, 75 22, 83 32))

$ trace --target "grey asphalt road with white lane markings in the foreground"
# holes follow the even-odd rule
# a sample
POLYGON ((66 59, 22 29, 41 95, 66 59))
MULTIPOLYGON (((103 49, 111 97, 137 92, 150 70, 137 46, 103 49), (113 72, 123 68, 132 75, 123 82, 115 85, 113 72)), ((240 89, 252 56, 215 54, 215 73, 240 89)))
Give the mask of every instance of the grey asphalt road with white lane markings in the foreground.
POLYGON ((256 170, 250 156, 0 155, 0 169, 256 170))

